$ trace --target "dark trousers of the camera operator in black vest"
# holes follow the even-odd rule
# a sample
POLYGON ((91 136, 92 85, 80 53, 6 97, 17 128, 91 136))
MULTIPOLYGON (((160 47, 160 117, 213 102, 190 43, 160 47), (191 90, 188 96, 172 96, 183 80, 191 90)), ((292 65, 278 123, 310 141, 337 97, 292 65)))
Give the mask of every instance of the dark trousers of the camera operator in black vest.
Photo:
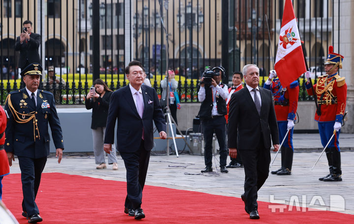
POLYGON ((213 118, 203 119, 204 133, 204 160, 207 167, 212 166, 212 139, 216 134, 219 143, 220 166, 226 166, 228 156, 226 147, 226 119, 225 116, 214 116, 213 118))

